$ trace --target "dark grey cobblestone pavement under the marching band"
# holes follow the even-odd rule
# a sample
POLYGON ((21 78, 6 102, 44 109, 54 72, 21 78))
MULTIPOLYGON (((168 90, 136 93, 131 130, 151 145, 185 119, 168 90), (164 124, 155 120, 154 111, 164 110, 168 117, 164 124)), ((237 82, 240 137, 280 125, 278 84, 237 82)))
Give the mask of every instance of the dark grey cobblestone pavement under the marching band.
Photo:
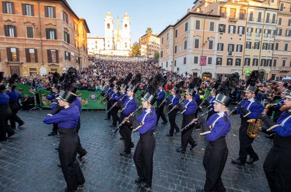
MULTIPOLYGON (((0 191, 59 191, 66 187, 59 163, 58 136, 48 136, 53 125, 42 122, 48 109, 41 111, 19 111, 18 116, 25 124, 16 129, 16 134, 5 142, 0 142, 0 191)), ((206 111, 206 109, 203 109, 206 111)), ((140 113, 139 113, 140 114, 140 113)), ((139 114, 137 116, 139 116, 139 114)), ((200 112, 200 114, 202 114, 200 112)), ((112 120, 104 120, 105 111, 82 111, 79 136, 82 146, 88 154, 80 160, 86 183, 78 191, 147 191, 135 185, 137 178, 133 161, 133 148, 130 156, 120 156, 124 143, 120 134, 114 134, 109 125, 112 120)), ((202 165, 207 140, 198 132, 192 136, 198 145, 194 151, 190 146, 184 154, 176 152, 181 145, 181 134, 167 137, 169 123, 160 122, 155 130, 156 149, 153 156, 153 183, 148 191, 174 192, 195 191, 203 188, 205 170, 202 165)), ((177 125, 182 124, 182 116, 177 115, 177 125)), ((256 138, 253 147, 260 160, 255 165, 245 167, 231 164, 231 159, 238 157, 239 116, 231 117, 231 131, 226 136, 228 159, 222 173, 222 180, 227 191, 269 191, 264 175, 263 162, 272 147, 272 140, 256 138)), ((132 133, 136 145, 137 132, 132 133)))

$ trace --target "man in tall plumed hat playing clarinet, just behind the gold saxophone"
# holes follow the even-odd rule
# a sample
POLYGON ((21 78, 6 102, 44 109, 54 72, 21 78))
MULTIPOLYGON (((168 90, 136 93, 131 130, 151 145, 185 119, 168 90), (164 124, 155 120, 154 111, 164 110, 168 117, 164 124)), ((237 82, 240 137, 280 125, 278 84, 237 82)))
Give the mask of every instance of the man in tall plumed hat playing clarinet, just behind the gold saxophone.
POLYGON ((255 161, 259 160, 258 155, 251 146, 254 138, 249 137, 247 134, 249 127, 247 120, 257 119, 258 115, 264 110, 264 106, 254 99, 259 92, 259 89, 255 87, 258 76, 258 70, 253 70, 251 72, 249 79, 246 81, 246 85, 249 85, 245 91, 246 100, 241 104, 237 104, 237 109, 233 113, 241 115, 241 127, 239 128, 239 157, 238 159, 231 160, 231 163, 237 165, 245 165, 246 163, 253 164, 255 161), (248 155, 250 159, 246 162, 248 155))

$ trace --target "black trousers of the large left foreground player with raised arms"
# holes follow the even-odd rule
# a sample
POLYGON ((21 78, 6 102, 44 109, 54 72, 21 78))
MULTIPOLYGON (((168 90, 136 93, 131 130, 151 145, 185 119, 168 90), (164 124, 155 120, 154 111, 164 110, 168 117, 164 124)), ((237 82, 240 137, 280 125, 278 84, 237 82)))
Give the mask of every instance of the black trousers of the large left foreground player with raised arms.
POLYGON ((64 129, 59 127, 60 144, 58 147, 61 168, 68 190, 76 190, 77 185, 85 182, 78 160, 76 159, 80 138, 76 127, 64 129))

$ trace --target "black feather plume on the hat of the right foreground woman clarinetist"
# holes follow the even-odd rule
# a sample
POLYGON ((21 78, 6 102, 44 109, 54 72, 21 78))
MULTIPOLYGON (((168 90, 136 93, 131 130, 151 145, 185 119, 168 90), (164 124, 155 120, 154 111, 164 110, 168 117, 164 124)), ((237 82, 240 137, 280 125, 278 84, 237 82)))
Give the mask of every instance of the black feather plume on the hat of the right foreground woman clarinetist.
POLYGON ((229 96, 231 91, 236 88, 236 85, 238 84, 238 75, 233 73, 228 76, 228 78, 223 81, 220 86, 218 87, 218 93, 223 94, 225 96, 229 96))

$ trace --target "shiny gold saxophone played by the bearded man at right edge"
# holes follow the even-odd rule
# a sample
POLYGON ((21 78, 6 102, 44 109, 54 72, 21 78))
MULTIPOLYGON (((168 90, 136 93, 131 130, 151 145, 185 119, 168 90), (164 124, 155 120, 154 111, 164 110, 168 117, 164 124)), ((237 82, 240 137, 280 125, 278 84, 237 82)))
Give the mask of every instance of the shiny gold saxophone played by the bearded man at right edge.
MULTIPOLYGON (((264 111, 262 112, 263 115, 266 115, 268 112, 268 108, 274 105, 278 105, 277 103, 274 104, 267 104, 264 108, 264 111)), ((282 105, 282 104, 279 104, 282 105)), ((248 128, 248 136, 251 138, 259 137, 259 131, 261 131, 262 127, 262 120, 258 119, 257 123, 255 124, 256 119, 249 119, 247 122, 249 122, 249 128, 248 128)))

